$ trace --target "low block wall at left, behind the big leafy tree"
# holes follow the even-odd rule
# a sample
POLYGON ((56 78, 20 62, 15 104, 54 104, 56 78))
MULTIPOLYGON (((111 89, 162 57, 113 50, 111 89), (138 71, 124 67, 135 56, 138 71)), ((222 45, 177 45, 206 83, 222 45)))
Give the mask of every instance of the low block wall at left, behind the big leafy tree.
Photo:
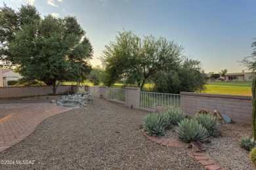
MULTIPOLYGON (((58 86, 56 94, 60 93, 74 93, 77 90, 77 86, 58 86)), ((0 98, 9 97, 26 97, 33 95, 49 95, 52 94, 53 90, 50 86, 7 86, 0 87, 0 98)))

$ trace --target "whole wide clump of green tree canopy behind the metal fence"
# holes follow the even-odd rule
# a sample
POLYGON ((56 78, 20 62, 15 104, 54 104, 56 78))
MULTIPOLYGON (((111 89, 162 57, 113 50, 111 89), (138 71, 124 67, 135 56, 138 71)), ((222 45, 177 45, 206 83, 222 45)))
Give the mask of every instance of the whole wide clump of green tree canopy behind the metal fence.
MULTIPOLYGON (((190 75, 190 78, 202 81, 189 84, 193 88, 187 88, 186 91, 203 90, 205 78, 200 61, 183 56, 183 51, 181 45, 167 41, 164 37, 150 35, 140 39, 132 31, 118 32, 116 41, 106 45, 102 52, 101 61, 106 70, 104 84, 111 86, 122 80, 127 85, 136 84, 142 90, 146 82, 152 82, 156 85, 156 90, 170 92, 160 90, 163 86, 171 86, 170 82, 165 81, 166 78, 174 78, 178 88, 186 84, 186 77, 190 75)), ((179 90, 181 88, 171 92, 178 93, 179 90)))

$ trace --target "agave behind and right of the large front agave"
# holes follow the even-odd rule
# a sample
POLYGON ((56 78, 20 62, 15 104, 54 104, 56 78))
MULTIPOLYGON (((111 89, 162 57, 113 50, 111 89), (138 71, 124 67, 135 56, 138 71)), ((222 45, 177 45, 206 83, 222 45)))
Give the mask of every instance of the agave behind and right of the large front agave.
POLYGON ((213 137, 217 137, 219 136, 218 134, 221 134, 220 131, 218 131, 219 120, 215 116, 211 114, 196 114, 195 118, 213 137))

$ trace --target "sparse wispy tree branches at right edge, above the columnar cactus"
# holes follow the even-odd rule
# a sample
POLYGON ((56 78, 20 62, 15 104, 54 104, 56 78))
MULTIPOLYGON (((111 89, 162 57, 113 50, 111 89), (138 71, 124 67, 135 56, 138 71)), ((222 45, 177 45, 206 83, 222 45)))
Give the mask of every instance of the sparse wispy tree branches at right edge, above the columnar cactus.
POLYGON ((238 62, 242 63, 242 65, 247 67, 249 71, 254 72, 256 70, 256 41, 251 43, 251 47, 253 47, 253 52, 251 52, 251 56, 247 56, 242 59, 242 61, 238 62))

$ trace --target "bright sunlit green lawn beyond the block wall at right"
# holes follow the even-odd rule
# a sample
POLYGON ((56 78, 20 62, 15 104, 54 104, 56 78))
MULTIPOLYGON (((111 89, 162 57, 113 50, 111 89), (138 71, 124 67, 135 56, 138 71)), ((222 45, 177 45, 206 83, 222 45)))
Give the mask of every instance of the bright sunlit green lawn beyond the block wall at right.
POLYGON ((206 93, 251 95, 251 82, 208 82, 206 93))

